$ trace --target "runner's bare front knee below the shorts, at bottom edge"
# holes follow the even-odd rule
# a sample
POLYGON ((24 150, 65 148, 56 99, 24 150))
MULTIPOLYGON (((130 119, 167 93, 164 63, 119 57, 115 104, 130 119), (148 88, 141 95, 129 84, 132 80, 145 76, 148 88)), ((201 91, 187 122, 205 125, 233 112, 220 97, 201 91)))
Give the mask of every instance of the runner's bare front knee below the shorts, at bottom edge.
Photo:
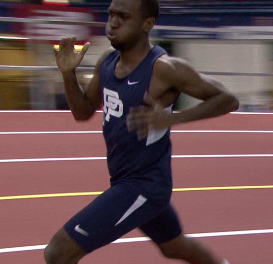
POLYGON ((64 229, 52 237, 44 250, 46 264, 77 264, 85 255, 64 229))

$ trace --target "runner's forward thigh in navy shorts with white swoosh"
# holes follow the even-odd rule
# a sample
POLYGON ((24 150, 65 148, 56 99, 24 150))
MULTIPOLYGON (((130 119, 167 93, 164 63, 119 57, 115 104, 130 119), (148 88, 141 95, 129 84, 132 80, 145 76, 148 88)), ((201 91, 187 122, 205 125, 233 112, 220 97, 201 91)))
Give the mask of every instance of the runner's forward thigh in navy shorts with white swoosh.
POLYGON ((155 205, 132 184, 116 184, 74 215, 64 228, 80 248, 90 253, 143 226, 165 207, 155 205))

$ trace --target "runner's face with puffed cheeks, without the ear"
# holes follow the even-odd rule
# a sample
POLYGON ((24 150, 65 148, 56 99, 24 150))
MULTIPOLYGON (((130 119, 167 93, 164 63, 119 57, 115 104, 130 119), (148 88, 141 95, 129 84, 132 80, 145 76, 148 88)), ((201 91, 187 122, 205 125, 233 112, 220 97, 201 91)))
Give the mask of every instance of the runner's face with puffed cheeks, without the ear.
POLYGON ((140 0, 112 0, 105 32, 115 49, 128 50, 143 36, 140 4, 140 0))

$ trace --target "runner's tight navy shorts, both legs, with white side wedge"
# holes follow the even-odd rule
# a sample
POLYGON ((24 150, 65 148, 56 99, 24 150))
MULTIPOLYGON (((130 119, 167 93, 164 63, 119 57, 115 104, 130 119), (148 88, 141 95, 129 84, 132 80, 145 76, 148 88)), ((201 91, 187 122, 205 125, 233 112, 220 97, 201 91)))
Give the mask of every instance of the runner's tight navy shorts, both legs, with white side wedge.
POLYGON ((64 228, 86 253, 136 228, 157 244, 170 241, 181 233, 181 227, 170 204, 170 186, 156 185, 145 177, 121 180, 74 215, 64 228), (153 191, 147 192, 147 186, 153 191))

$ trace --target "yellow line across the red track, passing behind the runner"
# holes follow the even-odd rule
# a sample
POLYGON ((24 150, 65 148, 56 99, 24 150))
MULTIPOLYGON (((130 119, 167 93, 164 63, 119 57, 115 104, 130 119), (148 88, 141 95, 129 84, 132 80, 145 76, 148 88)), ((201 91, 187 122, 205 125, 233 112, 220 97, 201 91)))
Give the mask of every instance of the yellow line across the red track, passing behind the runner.
MULTIPOLYGON (((173 192, 186 192, 186 191, 243 190, 243 189, 270 189, 270 188, 273 188, 273 185, 174 188, 174 189, 172 189, 172 191, 173 192)), ((3 197, 0 197, 0 200, 48 198, 48 197, 70 197, 70 196, 92 196, 92 195, 101 195, 102 193, 103 192, 84 192, 84 193, 64 193, 64 194, 3 196, 3 197)))

